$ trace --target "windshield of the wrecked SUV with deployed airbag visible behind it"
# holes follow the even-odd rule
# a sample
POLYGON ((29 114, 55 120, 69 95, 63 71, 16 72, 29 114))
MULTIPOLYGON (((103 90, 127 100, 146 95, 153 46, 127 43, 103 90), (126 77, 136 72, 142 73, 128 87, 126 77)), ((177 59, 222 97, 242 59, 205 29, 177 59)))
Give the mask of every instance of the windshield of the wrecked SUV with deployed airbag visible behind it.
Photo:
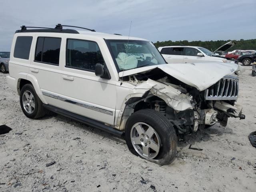
POLYGON ((106 40, 118 71, 166 64, 152 42, 141 40, 106 40))

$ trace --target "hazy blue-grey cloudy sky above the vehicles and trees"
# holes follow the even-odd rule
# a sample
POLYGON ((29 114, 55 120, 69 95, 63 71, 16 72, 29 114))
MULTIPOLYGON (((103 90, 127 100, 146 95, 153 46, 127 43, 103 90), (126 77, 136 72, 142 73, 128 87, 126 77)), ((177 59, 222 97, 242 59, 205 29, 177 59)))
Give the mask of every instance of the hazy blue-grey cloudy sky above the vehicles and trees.
POLYGON ((164 40, 256 38, 256 0, 0 0, 0 50, 20 26, 58 23, 164 40))

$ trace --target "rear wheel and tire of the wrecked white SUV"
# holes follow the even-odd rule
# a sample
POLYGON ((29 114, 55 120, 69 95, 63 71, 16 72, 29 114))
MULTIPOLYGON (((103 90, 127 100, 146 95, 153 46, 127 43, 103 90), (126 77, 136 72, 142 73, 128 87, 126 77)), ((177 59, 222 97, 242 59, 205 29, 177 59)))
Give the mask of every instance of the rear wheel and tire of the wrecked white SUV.
POLYGON ((37 119, 46 114, 43 103, 36 94, 32 84, 26 84, 20 92, 20 106, 23 113, 30 119, 37 119))

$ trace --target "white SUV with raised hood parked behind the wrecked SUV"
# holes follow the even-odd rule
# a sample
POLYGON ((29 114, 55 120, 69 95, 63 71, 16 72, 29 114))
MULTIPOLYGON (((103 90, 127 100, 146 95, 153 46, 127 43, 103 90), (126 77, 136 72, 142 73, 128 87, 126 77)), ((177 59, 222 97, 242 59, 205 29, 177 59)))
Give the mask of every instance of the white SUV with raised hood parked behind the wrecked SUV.
MULTIPOLYGON (((210 50, 198 46, 164 46, 158 50, 168 63, 194 63, 194 62, 231 62, 234 59, 225 58, 215 54, 217 51, 224 52, 234 46, 234 42, 228 42, 211 52, 210 50)), ((238 63, 236 61, 236 63, 238 63)))

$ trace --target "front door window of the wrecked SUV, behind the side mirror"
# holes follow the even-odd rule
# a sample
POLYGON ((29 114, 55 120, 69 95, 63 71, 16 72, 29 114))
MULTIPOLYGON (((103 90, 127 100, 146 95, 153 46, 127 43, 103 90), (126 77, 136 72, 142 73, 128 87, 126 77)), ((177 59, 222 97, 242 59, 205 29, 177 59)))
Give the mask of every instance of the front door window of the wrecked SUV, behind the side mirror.
POLYGON ((96 63, 104 64, 96 42, 68 39, 66 67, 94 71, 96 63))

